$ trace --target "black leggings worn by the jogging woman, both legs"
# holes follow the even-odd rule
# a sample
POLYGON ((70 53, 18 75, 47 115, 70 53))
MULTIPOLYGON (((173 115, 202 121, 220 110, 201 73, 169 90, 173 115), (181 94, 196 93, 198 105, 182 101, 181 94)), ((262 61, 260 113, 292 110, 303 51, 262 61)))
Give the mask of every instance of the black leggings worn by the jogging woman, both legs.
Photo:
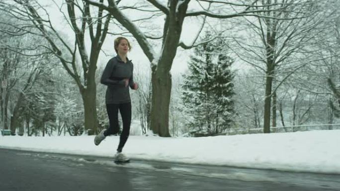
POLYGON ((106 111, 109 117, 110 127, 105 130, 104 135, 107 136, 119 132, 118 110, 120 111, 120 115, 122 116, 123 120, 123 131, 120 134, 120 141, 117 151, 122 152, 122 149, 130 134, 131 102, 122 104, 106 104, 106 111))

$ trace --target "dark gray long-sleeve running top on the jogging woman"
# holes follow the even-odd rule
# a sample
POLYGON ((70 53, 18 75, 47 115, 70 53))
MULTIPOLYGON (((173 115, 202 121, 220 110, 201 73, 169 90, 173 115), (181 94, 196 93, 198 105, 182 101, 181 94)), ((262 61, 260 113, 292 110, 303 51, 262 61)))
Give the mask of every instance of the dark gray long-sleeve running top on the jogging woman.
POLYGON ((131 102, 129 86, 133 88, 133 64, 127 59, 124 63, 117 55, 110 59, 101 75, 100 83, 107 85, 105 103, 119 104, 131 102), (123 79, 129 79, 125 87, 123 79))

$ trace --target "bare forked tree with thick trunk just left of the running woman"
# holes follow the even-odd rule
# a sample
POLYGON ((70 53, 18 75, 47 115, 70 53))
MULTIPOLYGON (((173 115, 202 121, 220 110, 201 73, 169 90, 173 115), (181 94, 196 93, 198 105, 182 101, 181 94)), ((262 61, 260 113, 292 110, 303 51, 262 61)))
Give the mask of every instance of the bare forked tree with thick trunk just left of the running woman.
MULTIPOLYGON (((30 32, 28 29, 35 27, 39 32, 33 34, 43 37, 49 46, 45 46, 57 58, 75 80, 83 98, 85 129, 88 134, 96 132, 96 83, 95 71, 101 46, 105 40, 111 16, 103 14, 103 9, 98 8, 95 17, 92 17, 90 5, 78 0, 66 0, 68 24, 74 31, 74 46, 68 44, 60 32, 53 27, 49 13, 35 0, 14 0, 15 6, 8 3, 7 11, 18 19, 29 21, 24 26, 19 26, 19 31, 30 32), (81 16, 77 13, 80 12, 81 16), (42 13, 45 16, 41 16, 42 13), (85 32, 89 32, 91 40, 90 54, 85 47, 85 32), (81 58, 82 71, 78 71, 77 52, 81 58)), ((100 0, 102 2, 103 0, 100 0)))

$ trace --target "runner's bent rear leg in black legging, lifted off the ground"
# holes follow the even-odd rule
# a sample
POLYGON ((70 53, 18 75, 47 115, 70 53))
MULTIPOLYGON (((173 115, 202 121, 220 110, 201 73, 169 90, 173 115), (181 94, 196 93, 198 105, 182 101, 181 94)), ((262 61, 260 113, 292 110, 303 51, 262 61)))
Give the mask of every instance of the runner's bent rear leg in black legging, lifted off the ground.
POLYGON ((106 131, 104 131, 105 136, 119 132, 118 108, 119 104, 106 104, 106 111, 110 121, 110 126, 106 131))

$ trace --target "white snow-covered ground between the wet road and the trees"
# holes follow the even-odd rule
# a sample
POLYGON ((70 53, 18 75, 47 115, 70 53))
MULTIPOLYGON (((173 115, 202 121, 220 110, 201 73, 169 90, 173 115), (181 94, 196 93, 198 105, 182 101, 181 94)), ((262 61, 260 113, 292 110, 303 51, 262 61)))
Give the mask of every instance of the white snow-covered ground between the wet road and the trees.
MULTIPOLYGON (((0 148, 112 157, 119 136, 0 136, 0 148)), ((214 137, 130 136, 133 159, 340 174, 340 130, 214 137)))

